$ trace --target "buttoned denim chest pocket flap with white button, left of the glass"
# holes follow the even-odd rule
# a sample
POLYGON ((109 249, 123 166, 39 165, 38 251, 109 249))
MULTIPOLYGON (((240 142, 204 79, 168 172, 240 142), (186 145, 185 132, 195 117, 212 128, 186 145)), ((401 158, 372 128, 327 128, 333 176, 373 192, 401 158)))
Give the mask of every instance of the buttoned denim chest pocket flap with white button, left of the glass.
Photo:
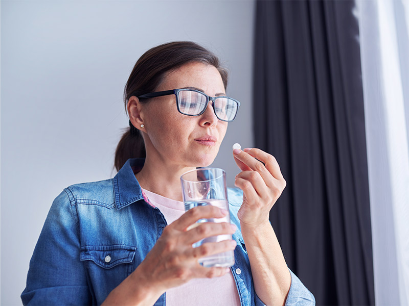
POLYGON ((120 264, 131 264, 137 248, 127 245, 82 246, 80 260, 93 261, 97 266, 111 269, 120 264))

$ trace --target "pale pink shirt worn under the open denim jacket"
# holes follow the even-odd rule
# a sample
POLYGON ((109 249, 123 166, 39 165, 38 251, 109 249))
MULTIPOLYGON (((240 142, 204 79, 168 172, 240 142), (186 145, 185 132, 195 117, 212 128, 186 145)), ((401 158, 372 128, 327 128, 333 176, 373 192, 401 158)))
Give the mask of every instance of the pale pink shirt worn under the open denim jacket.
MULTIPOLYGON (((165 216, 168 224, 185 213, 183 202, 175 201, 148 190, 142 189, 150 203, 165 216)), ((166 291, 166 305, 240 305, 240 298, 233 274, 221 277, 195 278, 188 283, 166 291)))

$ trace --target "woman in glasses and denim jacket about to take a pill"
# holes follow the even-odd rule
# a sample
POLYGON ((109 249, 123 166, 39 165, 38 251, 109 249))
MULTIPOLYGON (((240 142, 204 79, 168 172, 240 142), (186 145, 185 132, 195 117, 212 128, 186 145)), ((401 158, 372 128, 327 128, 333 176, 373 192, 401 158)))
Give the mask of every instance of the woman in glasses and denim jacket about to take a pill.
POLYGON ((242 170, 239 189, 229 189, 235 225, 188 230, 227 213, 212 206, 185 213, 180 186, 181 174, 213 162, 236 116, 239 103, 220 98, 226 85, 218 59, 193 42, 160 45, 138 60, 125 87, 130 130, 117 147, 119 172, 70 186, 55 199, 30 262, 24 304, 314 304, 287 268, 268 221, 286 183, 266 152, 233 152, 242 170), (222 234, 233 240, 192 247, 222 234), (198 264, 233 249, 230 269, 198 264))

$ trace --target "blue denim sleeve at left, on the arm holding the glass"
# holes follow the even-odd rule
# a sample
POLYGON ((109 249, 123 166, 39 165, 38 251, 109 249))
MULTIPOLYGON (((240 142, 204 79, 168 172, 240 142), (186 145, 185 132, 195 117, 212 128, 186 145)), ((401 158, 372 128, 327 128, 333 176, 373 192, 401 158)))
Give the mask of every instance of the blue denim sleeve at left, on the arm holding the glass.
POLYGON ((24 305, 92 303, 80 261, 77 222, 68 195, 54 200, 30 260, 24 305))

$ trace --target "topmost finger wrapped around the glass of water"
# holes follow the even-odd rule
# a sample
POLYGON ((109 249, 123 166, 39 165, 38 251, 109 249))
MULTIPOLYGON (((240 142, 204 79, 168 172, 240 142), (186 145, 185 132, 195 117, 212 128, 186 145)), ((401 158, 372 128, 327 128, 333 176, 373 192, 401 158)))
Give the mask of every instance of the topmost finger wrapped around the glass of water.
POLYGON ((185 231, 190 225, 200 219, 223 218, 229 212, 212 205, 197 206, 181 215, 179 219, 171 223, 179 231, 185 231))

